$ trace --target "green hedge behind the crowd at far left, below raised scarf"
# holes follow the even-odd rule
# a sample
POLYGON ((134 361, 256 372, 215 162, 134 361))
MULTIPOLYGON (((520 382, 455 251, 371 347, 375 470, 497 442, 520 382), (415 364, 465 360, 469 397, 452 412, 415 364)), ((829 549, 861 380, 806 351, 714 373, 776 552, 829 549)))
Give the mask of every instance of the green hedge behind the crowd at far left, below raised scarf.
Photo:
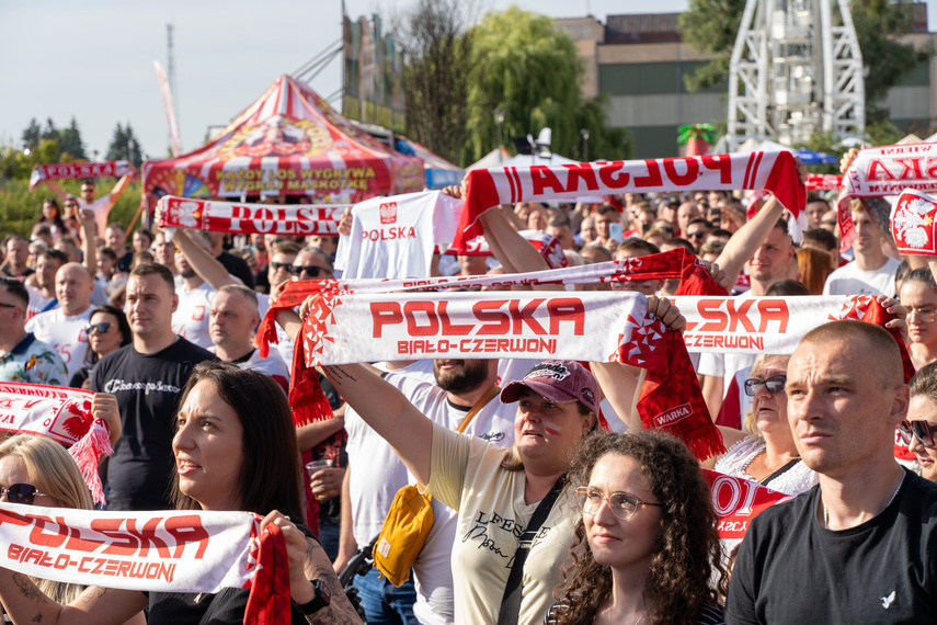
MULTIPOLYGON (((110 181, 116 182, 113 179, 110 181)), ((108 179, 99 181, 98 190, 100 193, 111 191, 107 182, 108 179)), ((58 183, 66 193, 73 195, 78 195, 81 186, 81 181, 78 180, 60 180, 58 183)), ((0 237, 15 232, 28 238, 30 231, 42 211, 43 200, 50 196, 53 193, 42 184, 30 191, 26 180, 0 180, 0 237)), ((129 226, 130 219, 134 218, 139 206, 140 184, 139 181, 135 181, 117 198, 117 203, 111 211, 111 220, 129 226)), ((134 228, 139 226, 140 220, 137 218, 134 228)))

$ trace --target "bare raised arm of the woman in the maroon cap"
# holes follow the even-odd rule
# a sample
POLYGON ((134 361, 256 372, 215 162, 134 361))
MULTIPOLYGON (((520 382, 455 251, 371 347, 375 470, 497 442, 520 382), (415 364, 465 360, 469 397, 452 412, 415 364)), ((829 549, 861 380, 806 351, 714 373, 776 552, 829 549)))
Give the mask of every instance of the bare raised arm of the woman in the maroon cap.
POLYGON ((363 365, 328 365, 322 371, 365 423, 390 443, 416 480, 430 484, 433 422, 363 365))

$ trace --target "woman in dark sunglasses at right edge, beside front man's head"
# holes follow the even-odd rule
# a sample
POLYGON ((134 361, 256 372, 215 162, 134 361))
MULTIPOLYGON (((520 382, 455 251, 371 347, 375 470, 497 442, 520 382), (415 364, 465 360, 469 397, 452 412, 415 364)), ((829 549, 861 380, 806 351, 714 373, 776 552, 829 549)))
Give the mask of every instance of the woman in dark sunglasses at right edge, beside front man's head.
POLYGON ((898 431, 921 463, 921 477, 937 481, 937 363, 925 365, 911 378, 907 420, 898 431))

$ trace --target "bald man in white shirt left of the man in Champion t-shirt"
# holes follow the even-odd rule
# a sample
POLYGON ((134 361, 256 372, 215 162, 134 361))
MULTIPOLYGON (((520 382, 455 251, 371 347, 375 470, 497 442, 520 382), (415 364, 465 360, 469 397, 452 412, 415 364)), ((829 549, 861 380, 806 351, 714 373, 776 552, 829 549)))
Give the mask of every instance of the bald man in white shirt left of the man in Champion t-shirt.
POLYGON ((55 293, 58 308, 30 319, 26 322, 26 331, 58 352, 68 368, 68 379, 71 379, 71 376, 85 365, 85 329, 91 321, 94 281, 79 263, 66 263, 55 274, 55 293))

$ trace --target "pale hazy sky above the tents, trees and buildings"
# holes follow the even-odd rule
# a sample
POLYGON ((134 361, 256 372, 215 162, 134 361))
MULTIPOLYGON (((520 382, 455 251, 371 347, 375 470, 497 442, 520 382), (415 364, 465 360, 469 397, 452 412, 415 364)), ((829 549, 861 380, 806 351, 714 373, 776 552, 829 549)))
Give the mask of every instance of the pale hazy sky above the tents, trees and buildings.
MULTIPOLYGON (((477 0, 479 13, 517 4, 553 18, 647 12, 637 0, 477 0)), ((385 20, 414 0, 346 0, 351 18, 385 20)), ((937 0, 928 2, 937 24, 937 0)), ((336 42, 341 0, 85 0, 0 2, 0 145, 20 146, 30 120, 57 127, 78 122, 89 156, 107 149, 129 123, 145 155, 168 155, 168 132, 153 60, 168 67, 167 27, 174 25, 175 103, 184 151, 201 147, 281 73, 292 73, 336 42)), ((684 11, 687 0, 658 0, 655 12, 684 11)), ((322 96, 341 88, 336 59, 310 82, 322 96)), ((333 102, 333 105, 336 101, 333 102)))

